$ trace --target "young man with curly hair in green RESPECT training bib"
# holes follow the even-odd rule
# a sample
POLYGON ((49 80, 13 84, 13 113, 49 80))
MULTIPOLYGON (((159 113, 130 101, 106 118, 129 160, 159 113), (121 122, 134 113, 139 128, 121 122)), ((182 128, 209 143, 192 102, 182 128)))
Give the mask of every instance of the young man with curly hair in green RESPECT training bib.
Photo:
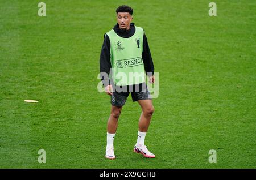
POLYGON ((111 96, 112 104, 107 125, 105 157, 115 158, 113 142, 118 118, 122 106, 125 105, 126 99, 131 93, 133 101, 138 101, 142 108, 137 143, 133 151, 141 153, 144 157, 154 158, 155 155, 148 151, 144 144, 146 132, 154 113, 150 92, 148 92, 144 80, 144 72, 149 77, 150 83, 155 81, 154 64, 147 37, 143 28, 131 23, 133 20, 131 7, 119 6, 116 13, 117 24, 108 33, 105 33, 100 55, 101 80, 106 94, 111 96))

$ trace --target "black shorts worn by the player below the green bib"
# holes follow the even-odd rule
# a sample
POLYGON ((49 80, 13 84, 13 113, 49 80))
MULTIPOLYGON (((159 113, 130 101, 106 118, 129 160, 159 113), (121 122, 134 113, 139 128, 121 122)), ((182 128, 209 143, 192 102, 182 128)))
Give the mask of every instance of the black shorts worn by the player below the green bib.
MULTIPOLYGON (((145 84, 144 84, 145 85, 145 84)), ((138 100, 150 100, 150 92, 147 89, 147 86, 144 86, 145 88, 139 88, 139 91, 134 91, 135 89, 133 88, 133 91, 128 91, 129 88, 127 87, 127 91, 125 92, 117 92, 114 91, 113 95, 111 96, 111 104, 113 106, 123 106, 125 105, 125 102, 127 100, 127 97, 130 95, 131 93, 131 98, 134 101, 138 101, 138 100)))

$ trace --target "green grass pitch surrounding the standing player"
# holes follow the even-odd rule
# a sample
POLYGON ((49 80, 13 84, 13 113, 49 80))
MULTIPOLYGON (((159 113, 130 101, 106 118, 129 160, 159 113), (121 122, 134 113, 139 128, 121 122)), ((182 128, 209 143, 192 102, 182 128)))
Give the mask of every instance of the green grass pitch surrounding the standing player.
POLYGON ((0 168, 256 168, 255 1, 216 0, 217 16, 203 0, 46 0, 46 16, 39 2, 0 2, 0 168), (141 109, 130 96, 117 158, 105 159, 110 97, 97 91, 99 57, 123 4, 159 72, 145 142, 155 159, 133 153, 141 109))

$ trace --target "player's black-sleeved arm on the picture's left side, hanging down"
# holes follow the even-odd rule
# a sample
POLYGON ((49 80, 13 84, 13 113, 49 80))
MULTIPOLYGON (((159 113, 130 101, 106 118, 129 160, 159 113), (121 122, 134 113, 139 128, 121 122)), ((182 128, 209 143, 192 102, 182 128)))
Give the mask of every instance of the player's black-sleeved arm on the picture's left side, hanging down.
POLYGON ((104 35, 104 42, 101 48, 101 55, 100 55, 100 73, 101 73, 101 81, 104 84, 104 87, 110 84, 110 40, 109 36, 104 35))

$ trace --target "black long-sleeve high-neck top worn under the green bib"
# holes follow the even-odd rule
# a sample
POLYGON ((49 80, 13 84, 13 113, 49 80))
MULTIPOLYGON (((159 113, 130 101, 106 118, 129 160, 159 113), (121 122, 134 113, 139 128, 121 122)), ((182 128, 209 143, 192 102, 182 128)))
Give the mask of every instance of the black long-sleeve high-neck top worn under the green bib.
MULTIPOLYGON (((123 38, 129 38, 134 35, 135 33, 135 27, 134 23, 130 24, 130 29, 120 29, 118 23, 114 26, 114 31, 117 33, 118 36, 121 36, 123 38)), ((154 75, 154 64, 150 53, 150 48, 148 46, 147 37, 144 33, 143 35, 143 51, 142 51, 142 59, 144 63, 144 68, 146 71, 146 74, 148 72, 151 72, 152 75, 154 75)), ((101 48, 101 55, 100 55, 100 72, 105 72, 107 74, 110 73, 111 63, 110 63, 110 40, 109 36, 104 34, 104 42, 101 48)), ((101 76, 102 77, 102 76, 101 76)), ((104 83, 104 86, 110 84, 110 80, 107 84, 107 82, 104 82, 103 78, 101 79, 102 83, 104 83)))

